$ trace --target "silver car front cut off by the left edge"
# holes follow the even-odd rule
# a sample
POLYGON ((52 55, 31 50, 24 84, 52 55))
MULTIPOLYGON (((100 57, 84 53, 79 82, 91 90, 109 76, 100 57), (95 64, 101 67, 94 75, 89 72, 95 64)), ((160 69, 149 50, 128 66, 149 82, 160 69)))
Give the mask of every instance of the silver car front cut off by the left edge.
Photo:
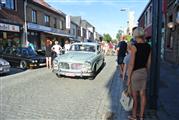
POLYGON ((10 71, 10 64, 6 60, 0 58, 0 74, 8 73, 10 71))

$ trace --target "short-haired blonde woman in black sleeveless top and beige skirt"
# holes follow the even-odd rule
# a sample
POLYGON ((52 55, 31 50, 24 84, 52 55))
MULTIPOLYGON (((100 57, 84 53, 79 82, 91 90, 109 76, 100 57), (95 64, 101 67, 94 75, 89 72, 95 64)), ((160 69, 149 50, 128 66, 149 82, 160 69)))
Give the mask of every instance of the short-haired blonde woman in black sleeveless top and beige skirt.
POLYGON ((144 119, 144 111, 146 106, 146 83, 147 83, 147 70, 150 68, 151 61, 151 48, 144 40, 144 30, 137 27, 134 30, 133 36, 136 43, 131 47, 131 59, 129 65, 129 76, 127 85, 131 86, 132 97, 134 105, 132 115, 129 116, 130 120, 137 120, 138 108, 138 93, 140 94, 140 120, 144 119))

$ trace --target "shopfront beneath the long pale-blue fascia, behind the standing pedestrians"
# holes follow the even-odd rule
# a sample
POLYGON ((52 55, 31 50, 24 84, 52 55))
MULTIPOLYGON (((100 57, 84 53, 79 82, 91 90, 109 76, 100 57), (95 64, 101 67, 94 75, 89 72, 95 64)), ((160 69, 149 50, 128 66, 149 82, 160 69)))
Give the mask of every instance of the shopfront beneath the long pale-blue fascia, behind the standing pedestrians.
POLYGON ((50 38, 52 41, 59 41, 61 46, 64 45, 65 39, 69 34, 63 30, 42 26, 34 23, 28 23, 28 42, 34 44, 36 49, 45 49, 45 40, 50 38))

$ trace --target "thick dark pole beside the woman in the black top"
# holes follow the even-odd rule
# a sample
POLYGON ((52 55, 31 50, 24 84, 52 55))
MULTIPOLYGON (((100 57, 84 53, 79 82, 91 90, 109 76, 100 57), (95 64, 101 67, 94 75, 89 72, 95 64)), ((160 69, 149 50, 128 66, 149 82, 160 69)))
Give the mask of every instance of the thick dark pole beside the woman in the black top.
POLYGON ((152 62, 149 81, 149 107, 157 110, 160 80, 160 52, 162 38, 162 0, 152 0, 152 62), (157 29, 156 29, 157 28, 157 29))

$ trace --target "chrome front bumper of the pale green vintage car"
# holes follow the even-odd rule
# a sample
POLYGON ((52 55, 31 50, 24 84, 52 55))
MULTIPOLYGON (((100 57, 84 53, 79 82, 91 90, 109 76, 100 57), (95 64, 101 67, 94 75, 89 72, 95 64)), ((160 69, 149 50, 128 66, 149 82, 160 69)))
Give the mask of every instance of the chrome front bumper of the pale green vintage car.
POLYGON ((60 71, 55 69, 53 69, 52 72, 58 75, 63 75, 68 77, 90 77, 94 75, 92 72, 74 72, 74 71, 62 71, 62 70, 60 71))

